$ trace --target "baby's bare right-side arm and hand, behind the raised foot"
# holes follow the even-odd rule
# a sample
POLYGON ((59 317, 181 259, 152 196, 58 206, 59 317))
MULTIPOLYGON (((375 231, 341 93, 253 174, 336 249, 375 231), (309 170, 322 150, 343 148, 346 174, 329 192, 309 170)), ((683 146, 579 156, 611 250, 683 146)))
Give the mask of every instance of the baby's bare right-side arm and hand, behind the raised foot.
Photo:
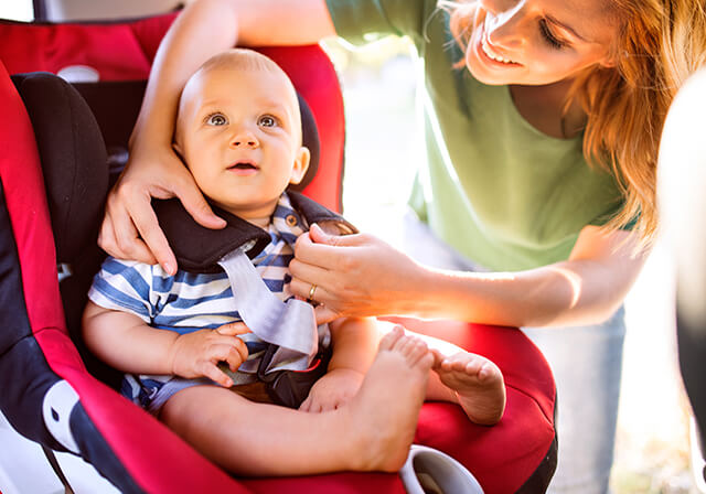
POLYGON ((379 335, 372 318, 341 318, 329 323, 333 355, 328 373, 301 404, 303 411, 339 408, 357 393, 377 351, 379 335))

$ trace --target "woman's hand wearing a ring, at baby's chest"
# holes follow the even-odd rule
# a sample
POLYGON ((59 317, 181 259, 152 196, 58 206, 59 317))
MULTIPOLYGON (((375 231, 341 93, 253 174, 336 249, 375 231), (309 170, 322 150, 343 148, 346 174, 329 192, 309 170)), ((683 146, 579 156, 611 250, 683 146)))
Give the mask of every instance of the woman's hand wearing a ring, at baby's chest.
POLYGON ((295 294, 309 299, 315 284, 319 323, 410 313, 418 302, 420 266, 372 235, 333 236, 312 225, 297 239, 289 269, 295 294))

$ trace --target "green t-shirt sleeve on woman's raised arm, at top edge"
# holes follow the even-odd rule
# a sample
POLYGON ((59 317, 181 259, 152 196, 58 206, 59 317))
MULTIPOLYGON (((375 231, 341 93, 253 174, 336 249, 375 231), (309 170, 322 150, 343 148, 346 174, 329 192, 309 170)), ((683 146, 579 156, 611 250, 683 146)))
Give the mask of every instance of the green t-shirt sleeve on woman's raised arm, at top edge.
POLYGON ((336 34, 362 45, 391 34, 418 42, 436 0, 327 0, 327 6, 336 34))

